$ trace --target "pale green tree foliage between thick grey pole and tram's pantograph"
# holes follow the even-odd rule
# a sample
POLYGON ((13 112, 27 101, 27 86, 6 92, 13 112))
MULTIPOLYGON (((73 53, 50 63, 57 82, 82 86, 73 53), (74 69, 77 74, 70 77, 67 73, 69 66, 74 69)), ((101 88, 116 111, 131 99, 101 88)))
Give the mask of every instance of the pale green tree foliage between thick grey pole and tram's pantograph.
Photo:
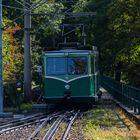
MULTIPOLYGON (((34 2, 38 2, 35 0, 34 2)), ((38 6, 33 12, 48 13, 49 16, 32 17, 32 66, 33 80, 38 83, 39 75, 35 72, 35 65, 41 65, 42 50, 46 47, 55 47, 55 39, 61 31, 60 25, 63 16, 58 16, 64 6, 60 2, 48 1, 46 4, 38 6)))

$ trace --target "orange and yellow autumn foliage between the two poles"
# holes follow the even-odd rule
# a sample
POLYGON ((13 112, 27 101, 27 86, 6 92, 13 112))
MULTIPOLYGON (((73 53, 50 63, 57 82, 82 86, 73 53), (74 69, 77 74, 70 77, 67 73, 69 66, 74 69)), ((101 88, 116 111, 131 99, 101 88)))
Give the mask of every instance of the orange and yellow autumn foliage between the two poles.
MULTIPOLYGON (((11 22, 4 20, 4 25, 11 22)), ((17 80, 23 63, 21 48, 14 34, 20 29, 16 24, 3 31, 3 68, 4 81, 17 80), (18 75, 17 75, 18 74, 18 75)))

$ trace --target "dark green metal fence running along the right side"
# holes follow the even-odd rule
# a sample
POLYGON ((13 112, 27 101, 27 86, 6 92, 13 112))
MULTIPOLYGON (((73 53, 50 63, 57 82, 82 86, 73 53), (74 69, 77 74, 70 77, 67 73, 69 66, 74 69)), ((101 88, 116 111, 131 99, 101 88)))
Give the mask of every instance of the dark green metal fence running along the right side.
POLYGON ((109 77, 101 77, 101 85, 114 99, 140 114, 140 89, 117 82, 109 77))

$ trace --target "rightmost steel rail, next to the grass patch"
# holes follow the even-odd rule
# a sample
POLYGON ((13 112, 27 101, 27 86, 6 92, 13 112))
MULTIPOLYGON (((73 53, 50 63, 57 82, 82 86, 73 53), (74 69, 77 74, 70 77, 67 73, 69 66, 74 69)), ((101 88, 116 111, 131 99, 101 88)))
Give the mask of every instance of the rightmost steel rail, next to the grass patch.
POLYGON ((69 132, 70 132, 70 129, 71 129, 71 127, 72 127, 74 121, 75 121, 76 118, 78 117, 79 113, 80 113, 80 110, 78 110, 78 111, 75 113, 75 115, 71 118, 71 120, 70 120, 70 122, 69 122, 69 124, 68 124, 68 126, 67 126, 67 128, 66 128, 66 130, 65 130, 65 132, 64 132, 64 134, 63 134, 63 136, 62 136, 62 140, 66 140, 66 138, 68 137, 68 134, 69 134, 69 132))

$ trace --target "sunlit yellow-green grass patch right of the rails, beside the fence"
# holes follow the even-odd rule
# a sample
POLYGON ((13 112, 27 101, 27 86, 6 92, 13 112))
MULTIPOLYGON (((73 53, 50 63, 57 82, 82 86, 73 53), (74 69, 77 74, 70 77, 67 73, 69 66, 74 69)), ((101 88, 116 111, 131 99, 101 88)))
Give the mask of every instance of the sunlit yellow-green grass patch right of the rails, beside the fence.
POLYGON ((114 105, 89 110, 78 124, 85 140, 140 140, 135 122, 114 105))

